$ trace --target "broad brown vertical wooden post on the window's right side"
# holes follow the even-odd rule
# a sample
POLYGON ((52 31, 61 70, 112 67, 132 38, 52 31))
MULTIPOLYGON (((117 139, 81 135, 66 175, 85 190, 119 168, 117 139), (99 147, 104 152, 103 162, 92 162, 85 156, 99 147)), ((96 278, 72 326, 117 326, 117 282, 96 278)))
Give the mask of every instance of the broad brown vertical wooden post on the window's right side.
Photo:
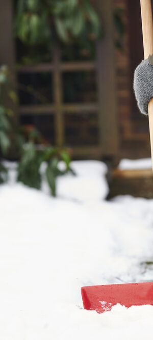
POLYGON ((96 7, 104 28, 104 37, 97 42, 96 48, 99 142, 104 154, 112 155, 119 148, 112 0, 98 0, 96 7))

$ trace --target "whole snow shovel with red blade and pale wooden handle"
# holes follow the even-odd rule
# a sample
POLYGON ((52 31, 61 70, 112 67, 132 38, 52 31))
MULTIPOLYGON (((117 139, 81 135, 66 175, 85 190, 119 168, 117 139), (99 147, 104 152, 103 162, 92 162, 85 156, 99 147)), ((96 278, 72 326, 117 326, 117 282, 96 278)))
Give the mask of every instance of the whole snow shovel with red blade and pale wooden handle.
MULTIPOLYGON (((151 0, 140 0, 143 32, 144 58, 153 54, 153 26, 151 0)), ((153 98, 148 104, 151 158, 153 160, 153 98)), ((125 307, 132 305, 153 305, 153 282, 122 283, 86 286, 81 289, 85 309, 98 313, 111 310, 120 303, 125 307)))

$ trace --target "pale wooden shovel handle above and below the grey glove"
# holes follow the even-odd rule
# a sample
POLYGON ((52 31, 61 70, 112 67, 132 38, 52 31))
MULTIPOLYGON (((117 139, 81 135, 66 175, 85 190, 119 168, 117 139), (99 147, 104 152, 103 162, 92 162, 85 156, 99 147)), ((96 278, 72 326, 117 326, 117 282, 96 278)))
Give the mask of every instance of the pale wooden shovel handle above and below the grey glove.
MULTIPOLYGON (((141 20, 143 34, 144 59, 153 54, 153 25, 152 25, 152 9, 151 0, 140 0, 141 4, 141 20)), ((153 170, 153 98, 148 104, 151 159, 153 170)))

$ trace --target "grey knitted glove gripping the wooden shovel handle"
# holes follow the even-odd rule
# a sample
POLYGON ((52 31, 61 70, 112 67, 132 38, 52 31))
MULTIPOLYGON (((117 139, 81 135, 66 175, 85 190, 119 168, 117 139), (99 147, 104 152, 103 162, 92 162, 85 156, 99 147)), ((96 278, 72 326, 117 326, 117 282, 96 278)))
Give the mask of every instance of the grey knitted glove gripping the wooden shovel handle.
POLYGON ((134 91, 141 113, 148 114, 148 103, 153 97, 153 66, 152 56, 142 60, 134 74, 134 91))

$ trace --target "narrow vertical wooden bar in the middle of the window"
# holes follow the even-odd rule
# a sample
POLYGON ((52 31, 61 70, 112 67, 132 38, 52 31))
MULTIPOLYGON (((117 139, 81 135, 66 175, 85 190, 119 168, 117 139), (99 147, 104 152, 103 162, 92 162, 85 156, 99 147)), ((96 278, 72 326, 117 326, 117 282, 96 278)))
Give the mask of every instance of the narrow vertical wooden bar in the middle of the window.
POLYGON ((62 75, 60 71, 60 50, 54 48, 54 101, 55 101, 55 134, 56 145, 64 144, 64 122, 62 112, 62 75))

